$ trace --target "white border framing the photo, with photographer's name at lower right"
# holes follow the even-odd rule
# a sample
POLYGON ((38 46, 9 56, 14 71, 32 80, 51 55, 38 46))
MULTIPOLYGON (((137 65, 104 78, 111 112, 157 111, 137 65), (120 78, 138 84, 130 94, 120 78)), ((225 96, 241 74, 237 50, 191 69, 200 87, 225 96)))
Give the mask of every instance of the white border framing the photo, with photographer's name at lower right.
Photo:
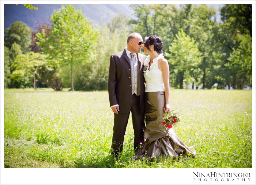
MULTIPOLYGON (((0 1, 1 9, 1 178, 0 184, 256 184, 255 181, 255 1, 0 1), (252 4, 252 169, 5 169, 4 168, 4 4, 252 4), (193 172, 251 173, 250 182, 193 181, 193 172)), ((30 10, 31 11, 31 10, 30 10)))

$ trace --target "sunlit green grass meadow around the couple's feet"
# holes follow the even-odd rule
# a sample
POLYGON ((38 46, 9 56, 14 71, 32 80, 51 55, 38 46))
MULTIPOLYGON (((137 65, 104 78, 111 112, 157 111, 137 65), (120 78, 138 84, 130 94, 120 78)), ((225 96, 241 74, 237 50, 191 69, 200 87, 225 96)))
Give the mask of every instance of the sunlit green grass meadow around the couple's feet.
POLYGON ((195 159, 132 160, 131 117, 114 159, 107 91, 5 89, 4 167, 252 168, 252 91, 172 89, 170 102, 181 114, 174 130, 195 146, 195 159))

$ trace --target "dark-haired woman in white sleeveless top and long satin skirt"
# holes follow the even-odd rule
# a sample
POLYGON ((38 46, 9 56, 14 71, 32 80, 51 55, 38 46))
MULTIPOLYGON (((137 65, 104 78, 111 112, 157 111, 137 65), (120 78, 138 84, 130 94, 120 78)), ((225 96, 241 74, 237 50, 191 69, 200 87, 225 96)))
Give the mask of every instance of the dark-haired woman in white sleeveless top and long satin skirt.
POLYGON ((149 54, 144 61, 144 78, 146 81, 145 117, 146 142, 135 153, 135 158, 154 158, 170 156, 177 158, 186 154, 196 156, 193 146, 186 146, 170 128, 162 124, 162 113, 170 112, 169 105, 169 65, 163 58, 163 42, 156 36, 145 38, 144 53, 149 54))

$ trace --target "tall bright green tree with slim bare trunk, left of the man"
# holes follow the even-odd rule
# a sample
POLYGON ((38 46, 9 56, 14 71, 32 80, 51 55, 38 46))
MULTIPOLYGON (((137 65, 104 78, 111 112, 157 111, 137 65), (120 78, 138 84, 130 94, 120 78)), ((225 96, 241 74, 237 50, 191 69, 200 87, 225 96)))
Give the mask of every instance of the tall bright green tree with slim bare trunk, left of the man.
POLYGON ((74 91, 73 66, 91 61, 94 58, 97 32, 89 20, 82 15, 81 8, 75 10, 72 5, 62 6, 51 16, 52 28, 49 38, 43 30, 38 33, 38 46, 50 61, 57 61, 61 66, 71 66, 71 84, 74 91))

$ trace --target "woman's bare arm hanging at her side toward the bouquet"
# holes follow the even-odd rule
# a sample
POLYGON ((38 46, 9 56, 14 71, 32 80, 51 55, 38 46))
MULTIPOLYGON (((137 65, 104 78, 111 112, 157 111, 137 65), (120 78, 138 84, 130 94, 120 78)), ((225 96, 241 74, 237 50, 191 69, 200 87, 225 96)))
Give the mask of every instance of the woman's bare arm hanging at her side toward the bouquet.
POLYGON ((166 59, 161 58, 158 60, 159 62, 159 70, 162 71, 163 74, 163 85, 165 86, 165 112, 170 112, 170 105, 169 105, 169 97, 170 97, 170 85, 169 85, 169 78, 170 78, 170 72, 169 72, 169 64, 166 59))

